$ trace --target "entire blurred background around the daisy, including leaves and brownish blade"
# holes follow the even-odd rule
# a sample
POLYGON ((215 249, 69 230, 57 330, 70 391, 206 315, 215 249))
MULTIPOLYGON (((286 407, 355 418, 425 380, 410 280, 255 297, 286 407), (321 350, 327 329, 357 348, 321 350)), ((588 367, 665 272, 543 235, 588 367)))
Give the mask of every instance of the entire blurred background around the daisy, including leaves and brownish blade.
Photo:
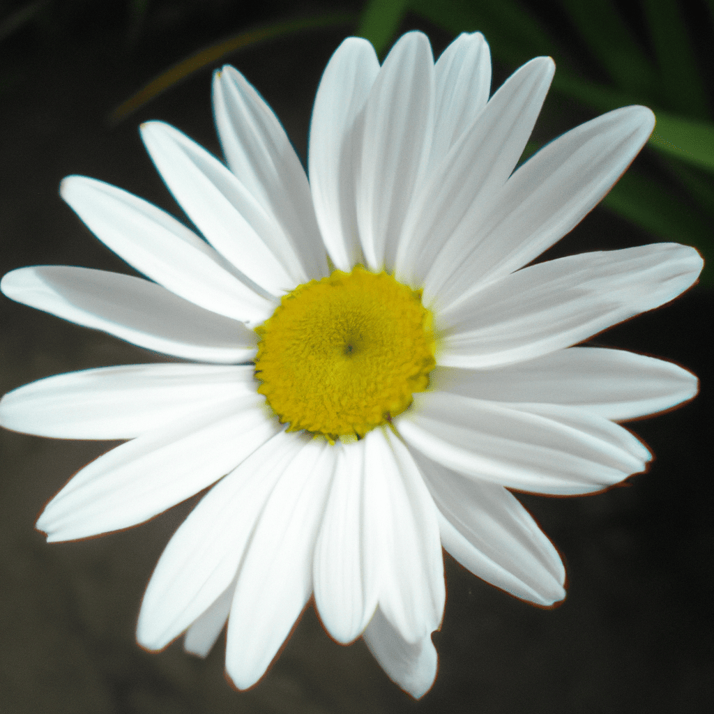
MULTIPOLYGON (((625 104, 655 109, 655 136, 583 223, 546 253, 680 241, 711 255, 714 1, 0 1, 0 274, 64 263, 131 273, 61 201, 85 174, 186 220, 137 126, 162 119, 216 154, 211 72, 256 85, 306 157, 321 72, 349 34, 381 55, 409 29, 435 56, 459 31, 491 44, 493 88, 550 54, 553 90, 526 152, 625 104)), ((414 702, 358 642, 341 647, 308 607, 261 683, 236 692, 223 640, 206 660, 181 643, 136 645, 141 595, 196 499, 103 538, 47 545, 34 522, 79 468, 114 443, 0 433, 0 712, 699 713, 714 704, 712 266, 675 303, 597 336, 665 356, 703 383, 678 411, 632 428, 657 458, 584 498, 521 496, 563 554, 568 598, 541 610, 446 557, 436 685, 414 702)), ((707 268, 705 268, 705 271, 707 268)), ((0 296, 0 392, 51 374, 162 361, 0 296)))

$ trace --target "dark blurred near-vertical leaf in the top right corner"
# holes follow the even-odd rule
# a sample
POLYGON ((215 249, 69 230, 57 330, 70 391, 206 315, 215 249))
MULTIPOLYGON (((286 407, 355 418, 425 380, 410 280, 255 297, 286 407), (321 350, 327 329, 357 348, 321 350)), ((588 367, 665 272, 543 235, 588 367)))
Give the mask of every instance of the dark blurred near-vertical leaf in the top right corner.
POLYGON ((674 0, 644 0, 643 9, 667 106, 681 114, 707 119, 704 85, 678 4, 674 0))

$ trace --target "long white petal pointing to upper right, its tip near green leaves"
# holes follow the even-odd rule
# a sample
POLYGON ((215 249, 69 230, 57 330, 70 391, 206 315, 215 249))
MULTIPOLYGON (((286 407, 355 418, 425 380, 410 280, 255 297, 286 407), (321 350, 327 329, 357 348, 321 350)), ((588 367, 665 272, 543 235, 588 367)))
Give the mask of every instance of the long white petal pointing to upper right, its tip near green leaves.
POLYGON ((620 178, 653 126, 649 109, 628 106, 543 147, 478 215, 458 226, 426 277, 425 304, 438 298, 447 306, 560 240, 620 178))

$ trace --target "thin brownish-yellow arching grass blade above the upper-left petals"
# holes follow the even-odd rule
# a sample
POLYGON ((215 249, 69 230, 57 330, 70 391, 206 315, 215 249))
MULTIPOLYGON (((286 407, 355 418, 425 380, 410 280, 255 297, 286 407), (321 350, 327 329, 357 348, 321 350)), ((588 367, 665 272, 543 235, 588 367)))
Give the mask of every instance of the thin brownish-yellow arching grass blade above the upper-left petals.
POLYGON ((170 69, 159 74, 158 77, 152 79, 149 84, 146 84, 146 86, 140 89, 134 96, 131 96, 116 107, 109 115, 109 121, 112 124, 118 124, 120 121, 126 119, 129 114, 139 109, 139 107, 144 106, 148 101, 154 99, 155 96, 158 96, 167 89, 171 89, 171 87, 183 81, 194 72, 213 64, 213 62, 218 61, 238 49, 243 49, 258 44, 258 42, 290 35, 303 30, 346 25, 355 20, 356 18, 353 15, 344 13, 329 14, 272 23, 241 32, 217 44, 206 47, 206 49, 202 49, 196 52, 196 54, 192 54, 190 57, 181 60, 178 64, 175 64, 170 69))

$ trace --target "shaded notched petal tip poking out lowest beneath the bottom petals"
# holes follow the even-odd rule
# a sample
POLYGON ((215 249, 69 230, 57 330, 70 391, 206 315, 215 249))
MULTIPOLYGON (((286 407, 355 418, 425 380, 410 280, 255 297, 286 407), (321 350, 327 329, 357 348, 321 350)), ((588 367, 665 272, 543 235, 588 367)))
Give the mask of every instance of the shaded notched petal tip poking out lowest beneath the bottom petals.
POLYGON ((415 699, 431 689, 436 679, 436 648, 431 633, 407 642, 377 610, 364 633, 364 641, 393 683, 415 699))

